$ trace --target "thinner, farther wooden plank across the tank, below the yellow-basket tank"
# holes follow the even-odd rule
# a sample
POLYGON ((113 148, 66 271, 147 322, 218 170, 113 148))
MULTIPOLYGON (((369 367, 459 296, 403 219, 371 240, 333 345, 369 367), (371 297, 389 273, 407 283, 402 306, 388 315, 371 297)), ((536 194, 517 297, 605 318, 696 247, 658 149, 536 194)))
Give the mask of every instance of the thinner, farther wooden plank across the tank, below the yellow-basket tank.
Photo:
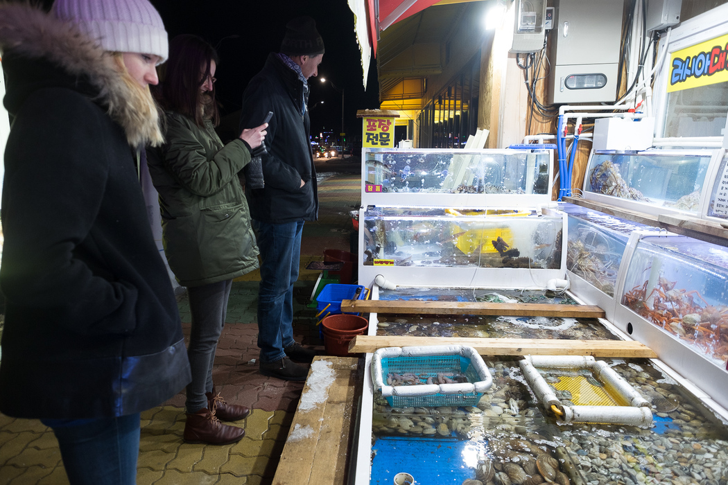
POLYGON ((596 305, 544 303, 423 302, 419 300, 344 300, 341 310, 351 313, 405 313, 421 315, 558 316, 604 318, 596 305))

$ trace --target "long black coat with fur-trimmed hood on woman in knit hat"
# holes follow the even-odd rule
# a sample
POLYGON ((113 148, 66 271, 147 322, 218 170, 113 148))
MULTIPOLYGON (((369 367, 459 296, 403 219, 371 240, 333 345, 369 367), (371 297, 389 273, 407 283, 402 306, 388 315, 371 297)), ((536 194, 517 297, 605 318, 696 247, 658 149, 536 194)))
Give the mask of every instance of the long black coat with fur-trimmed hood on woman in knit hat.
POLYGON ((82 418, 162 404, 190 372, 130 147, 154 129, 141 96, 100 48, 31 7, 0 6, 0 47, 15 117, 2 194, 0 410, 82 418))

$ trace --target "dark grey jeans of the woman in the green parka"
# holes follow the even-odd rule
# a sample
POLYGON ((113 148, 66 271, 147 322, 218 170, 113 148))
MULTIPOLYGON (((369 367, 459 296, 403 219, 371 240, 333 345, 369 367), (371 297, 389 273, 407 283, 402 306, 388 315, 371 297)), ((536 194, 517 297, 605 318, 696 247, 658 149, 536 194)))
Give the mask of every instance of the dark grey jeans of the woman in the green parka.
POLYGON ((205 393, 213 390, 215 350, 225 325, 231 288, 232 279, 187 288, 192 314, 187 357, 192 381, 187 385, 185 407, 190 414, 207 407, 205 393))

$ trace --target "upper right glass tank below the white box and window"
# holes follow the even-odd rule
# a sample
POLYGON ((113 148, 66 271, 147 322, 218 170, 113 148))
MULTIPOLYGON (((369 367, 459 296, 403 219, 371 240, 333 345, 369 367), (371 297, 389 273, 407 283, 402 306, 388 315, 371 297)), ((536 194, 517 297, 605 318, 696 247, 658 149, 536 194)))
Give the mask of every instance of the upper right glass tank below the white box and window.
POLYGON ((712 155, 712 151, 594 152, 584 196, 609 196, 610 203, 630 201, 644 212, 649 212, 645 207, 656 207, 697 214, 712 155))

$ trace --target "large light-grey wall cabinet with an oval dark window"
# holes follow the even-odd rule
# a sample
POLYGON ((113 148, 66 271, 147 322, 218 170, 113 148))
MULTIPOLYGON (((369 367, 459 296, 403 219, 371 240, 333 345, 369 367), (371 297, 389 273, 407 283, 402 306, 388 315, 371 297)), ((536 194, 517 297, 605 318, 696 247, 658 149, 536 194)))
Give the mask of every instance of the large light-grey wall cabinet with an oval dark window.
POLYGON ((555 0, 547 103, 614 103, 623 0, 555 0))

